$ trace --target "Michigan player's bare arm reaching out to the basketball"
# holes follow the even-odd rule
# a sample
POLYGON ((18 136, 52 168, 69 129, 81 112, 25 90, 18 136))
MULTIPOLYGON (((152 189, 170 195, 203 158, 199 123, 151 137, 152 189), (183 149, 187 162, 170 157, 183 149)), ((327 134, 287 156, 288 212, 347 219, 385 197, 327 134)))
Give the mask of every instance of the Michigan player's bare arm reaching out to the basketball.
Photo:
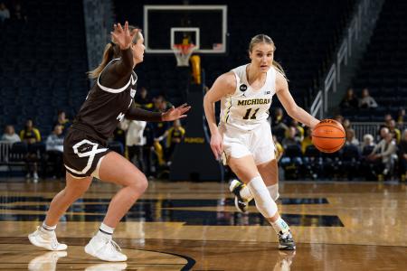
POLYGON ((294 98, 292 98, 291 94, 289 93, 289 83, 287 82, 287 79, 285 79, 284 76, 282 76, 282 74, 280 74, 278 71, 276 79, 276 93, 282 106, 289 114, 289 117, 297 119, 299 122, 309 126, 311 129, 317 126, 319 120, 309 115, 309 113, 303 108, 298 107, 294 98))

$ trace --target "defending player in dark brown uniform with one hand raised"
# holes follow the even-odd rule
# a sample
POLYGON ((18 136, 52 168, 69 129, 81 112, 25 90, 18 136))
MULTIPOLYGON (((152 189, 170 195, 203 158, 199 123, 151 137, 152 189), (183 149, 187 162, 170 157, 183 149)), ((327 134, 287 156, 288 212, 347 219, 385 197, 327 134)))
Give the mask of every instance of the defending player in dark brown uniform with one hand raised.
POLYGON ((28 236, 34 246, 49 250, 65 250, 58 243, 55 228, 62 214, 90 186, 93 177, 113 182, 122 188, 109 203, 106 217, 98 233, 90 239, 85 251, 105 261, 125 261, 118 244, 112 240, 118 222, 147 189, 147 178, 126 158, 106 147, 118 122, 124 117, 144 121, 173 121, 186 117, 190 107, 172 107, 165 113, 149 112, 134 107, 137 75, 133 71, 143 61, 145 46, 140 31, 114 25, 110 42, 99 67, 90 71, 96 83, 69 129, 63 145, 66 187, 52 200, 43 225, 28 236))

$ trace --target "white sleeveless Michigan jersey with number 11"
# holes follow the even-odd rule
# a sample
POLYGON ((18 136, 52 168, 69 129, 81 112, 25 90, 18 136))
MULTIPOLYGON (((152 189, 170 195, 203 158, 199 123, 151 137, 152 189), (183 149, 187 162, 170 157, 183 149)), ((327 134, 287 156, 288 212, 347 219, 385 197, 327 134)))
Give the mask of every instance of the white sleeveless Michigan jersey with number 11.
POLYGON ((252 130, 269 117, 271 99, 276 93, 276 70, 270 67, 261 89, 252 89, 247 81, 246 65, 233 69, 236 89, 221 99, 221 125, 252 130))

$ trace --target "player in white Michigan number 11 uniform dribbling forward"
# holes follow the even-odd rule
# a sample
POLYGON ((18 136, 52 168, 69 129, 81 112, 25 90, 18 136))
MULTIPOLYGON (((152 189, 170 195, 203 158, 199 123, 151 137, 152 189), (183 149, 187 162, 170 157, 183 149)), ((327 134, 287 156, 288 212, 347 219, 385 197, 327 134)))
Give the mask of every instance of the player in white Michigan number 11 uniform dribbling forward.
MULTIPOLYGON (((232 191, 237 205, 254 198, 260 213, 279 236, 279 248, 294 250, 289 225, 281 219, 276 202, 278 166, 270 124, 267 121, 274 94, 293 117, 313 128, 315 117, 298 107, 289 93, 284 71, 273 61, 276 47, 269 36, 251 39, 251 63, 222 74, 204 97, 204 111, 211 130, 211 148, 222 156, 241 182, 232 191), (221 100, 221 121, 216 125, 214 103, 221 100)), ((239 207, 239 206, 237 206, 239 207)))

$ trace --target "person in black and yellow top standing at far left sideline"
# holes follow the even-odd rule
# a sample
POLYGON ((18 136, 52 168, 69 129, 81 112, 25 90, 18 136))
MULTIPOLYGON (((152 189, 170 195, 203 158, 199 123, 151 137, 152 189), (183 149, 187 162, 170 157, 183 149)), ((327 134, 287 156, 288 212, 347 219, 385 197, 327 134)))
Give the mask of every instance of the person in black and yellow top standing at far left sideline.
POLYGON ((39 157, 33 145, 41 142, 41 134, 40 131, 33 126, 33 120, 31 118, 25 122, 25 127, 20 132, 20 138, 28 145, 28 154, 25 164, 27 174, 25 177, 29 179, 31 177, 30 173, 33 173, 33 182, 38 182, 37 161, 39 157))

